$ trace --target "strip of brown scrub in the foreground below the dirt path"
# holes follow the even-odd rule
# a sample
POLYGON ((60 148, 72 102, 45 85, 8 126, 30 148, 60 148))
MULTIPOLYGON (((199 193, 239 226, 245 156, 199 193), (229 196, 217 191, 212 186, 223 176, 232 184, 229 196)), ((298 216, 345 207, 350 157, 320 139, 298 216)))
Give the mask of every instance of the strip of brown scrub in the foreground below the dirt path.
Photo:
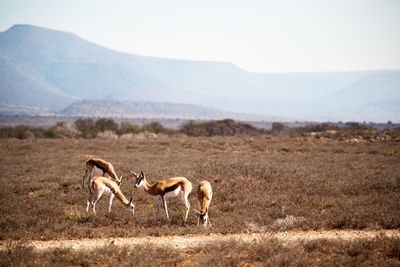
POLYGON ((150 244, 94 251, 54 249, 38 252, 19 245, 0 251, 2 266, 397 266, 400 240, 299 241, 290 245, 266 237, 259 242, 236 240, 193 246, 185 250, 150 244), (145 256, 144 256, 145 255, 145 256))

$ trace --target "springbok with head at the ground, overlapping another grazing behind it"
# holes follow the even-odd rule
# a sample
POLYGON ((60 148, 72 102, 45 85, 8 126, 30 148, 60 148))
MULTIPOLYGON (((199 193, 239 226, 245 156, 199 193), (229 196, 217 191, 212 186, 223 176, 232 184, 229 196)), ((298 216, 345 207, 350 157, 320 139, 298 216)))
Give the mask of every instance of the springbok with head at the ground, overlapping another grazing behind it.
POLYGON ((132 211, 132 214, 135 212, 135 205, 132 203, 132 197, 131 200, 128 201, 117 183, 109 178, 102 176, 94 177, 94 179, 89 182, 89 193, 86 212, 89 212, 89 205, 92 205, 93 213, 96 215, 96 203, 103 194, 108 196, 108 212, 111 212, 111 205, 115 196, 129 211, 132 211))

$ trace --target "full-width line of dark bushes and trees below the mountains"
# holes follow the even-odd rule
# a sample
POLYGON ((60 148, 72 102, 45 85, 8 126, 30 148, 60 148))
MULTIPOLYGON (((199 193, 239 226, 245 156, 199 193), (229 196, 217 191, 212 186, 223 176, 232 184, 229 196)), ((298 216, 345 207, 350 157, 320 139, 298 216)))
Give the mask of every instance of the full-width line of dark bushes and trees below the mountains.
MULTIPOLYGON (((388 122, 388 126, 392 126, 388 122)), ((271 129, 257 128, 249 123, 235 122, 231 119, 216 121, 189 121, 181 125, 179 129, 169 129, 159 122, 150 122, 143 125, 132 124, 127 121, 121 123, 113 119, 91 118, 77 119, 73 124, 61 122, 55 126, 30 127, 27 125, 0 127, 0 138, 121 138, 133 137, 135 135, 156 136, 164 135, 186 135, 186 136, 237 136, 237 135, 259 135, 259 134, 289 134, 289 135, 312 135, 314 138, 343 139, 356 136, 360 139, 390 139, 400 136, 400 127, 391 127, 378 130, 370 124, 348 122, 348 123, 320 123, 309 124, 300 127, 288 127, 284 123, 274 122, 271 129)))

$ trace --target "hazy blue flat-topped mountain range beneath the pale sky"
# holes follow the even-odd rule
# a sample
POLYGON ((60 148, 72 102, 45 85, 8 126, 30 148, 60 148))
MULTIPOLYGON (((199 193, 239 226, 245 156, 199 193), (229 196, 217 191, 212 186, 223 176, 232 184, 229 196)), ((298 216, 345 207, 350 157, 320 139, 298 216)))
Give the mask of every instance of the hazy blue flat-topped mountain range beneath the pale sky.
POLYGON ((226 62, 121 53, 72 33, 15 25, 0 33, 0 113, 400 122, 400 70, 250 73, 226 62))

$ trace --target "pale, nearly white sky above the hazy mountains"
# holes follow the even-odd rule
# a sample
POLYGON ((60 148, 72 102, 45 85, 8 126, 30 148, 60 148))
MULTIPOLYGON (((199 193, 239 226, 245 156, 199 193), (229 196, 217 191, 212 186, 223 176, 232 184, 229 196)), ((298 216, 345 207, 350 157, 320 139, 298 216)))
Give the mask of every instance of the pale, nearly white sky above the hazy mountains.
POLYGON ((251 72, 400 69, 400 0, 0 0, 14 24, 251 72))

